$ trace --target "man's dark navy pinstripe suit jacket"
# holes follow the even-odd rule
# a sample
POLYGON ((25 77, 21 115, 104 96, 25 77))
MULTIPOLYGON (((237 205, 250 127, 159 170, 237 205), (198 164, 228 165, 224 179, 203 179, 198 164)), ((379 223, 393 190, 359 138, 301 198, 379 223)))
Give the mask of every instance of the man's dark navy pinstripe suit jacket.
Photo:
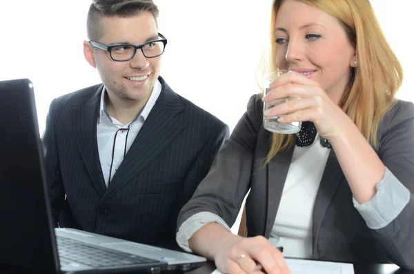
POLYGON ((42 144, 55 224, 176 247, 177 215, 206 176, 228 126, 159 81, 161 94, 108 189, 97 146, 103 85, 52 101, 42 144))

